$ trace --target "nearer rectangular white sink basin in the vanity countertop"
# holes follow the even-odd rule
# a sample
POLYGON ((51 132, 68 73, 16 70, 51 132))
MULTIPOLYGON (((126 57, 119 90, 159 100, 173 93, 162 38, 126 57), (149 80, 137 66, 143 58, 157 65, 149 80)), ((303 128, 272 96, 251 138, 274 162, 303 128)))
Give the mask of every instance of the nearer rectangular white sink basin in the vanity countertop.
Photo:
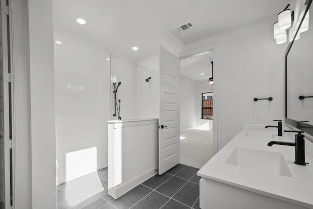
POLYGON ((292 176, 283 154, 279 152, 236 147, 225 163, 265 173, 292 176))

